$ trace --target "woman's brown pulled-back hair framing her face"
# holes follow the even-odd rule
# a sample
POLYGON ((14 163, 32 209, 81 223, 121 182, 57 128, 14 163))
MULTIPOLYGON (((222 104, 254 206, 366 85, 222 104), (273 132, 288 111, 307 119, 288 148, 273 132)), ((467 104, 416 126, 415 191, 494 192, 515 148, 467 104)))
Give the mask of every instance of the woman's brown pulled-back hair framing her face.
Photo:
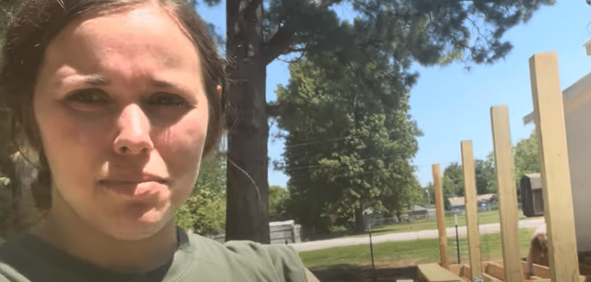
POLYGON ((81 16, 142 3, 157 4, 175 16, 199 52, 210 108, 204 154, 211 153, 218 145, 226 107, 225 95, 218 96, 216 87, 221 85, 222 91, 225 90, 225 61, 218 55, 206 24, 190 3, 184 0, 25 0, 11 16, 4 38, 0 100, 12 112, 13 141, 16 143, 18 136, 24 136, 39 153, 39 179, 32 188, 37 208, 51 208, 51 173, 32 111, 34 85, 48 44, 67 24, 81 16))

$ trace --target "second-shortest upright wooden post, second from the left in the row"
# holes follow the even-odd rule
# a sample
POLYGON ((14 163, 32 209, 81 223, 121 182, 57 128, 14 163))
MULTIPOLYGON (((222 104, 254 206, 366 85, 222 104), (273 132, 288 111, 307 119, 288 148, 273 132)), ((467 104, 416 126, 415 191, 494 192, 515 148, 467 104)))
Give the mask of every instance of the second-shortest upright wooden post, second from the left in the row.
POLYGON ((472 281, 482 281, 482 257, 480 254, 480 234, 478 233, 478 200, 476 197, 476 176, 474 174, 472 141, 462 141, 461 148, 462 167, 464 170, 468 254, 470 255, 470 278, 472 281))

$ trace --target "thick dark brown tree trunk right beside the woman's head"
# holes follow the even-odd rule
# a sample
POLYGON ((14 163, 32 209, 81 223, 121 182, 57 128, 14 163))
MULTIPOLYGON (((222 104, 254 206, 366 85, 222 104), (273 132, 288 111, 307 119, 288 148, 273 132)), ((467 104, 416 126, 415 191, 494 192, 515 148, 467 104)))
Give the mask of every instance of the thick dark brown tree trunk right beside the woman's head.
POLYGON ((226 240, 270 243, 267 182, 269 125, 260 0, 227 0, 230 83, 226 240))

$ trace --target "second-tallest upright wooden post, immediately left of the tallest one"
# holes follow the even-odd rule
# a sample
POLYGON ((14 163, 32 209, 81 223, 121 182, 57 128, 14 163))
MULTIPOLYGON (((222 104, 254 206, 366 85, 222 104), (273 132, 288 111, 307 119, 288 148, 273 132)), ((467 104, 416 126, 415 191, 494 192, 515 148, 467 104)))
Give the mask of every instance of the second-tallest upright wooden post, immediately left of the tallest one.
POLYGON ((491 125, 495 150, 495 168, 500 203, 500 233, 503 244, 505 281, 523 281, 519 258, 519 230, 517 228, 517 191, 514 181, 513 145, 509 129, 507 105, 491 107, 491 125))

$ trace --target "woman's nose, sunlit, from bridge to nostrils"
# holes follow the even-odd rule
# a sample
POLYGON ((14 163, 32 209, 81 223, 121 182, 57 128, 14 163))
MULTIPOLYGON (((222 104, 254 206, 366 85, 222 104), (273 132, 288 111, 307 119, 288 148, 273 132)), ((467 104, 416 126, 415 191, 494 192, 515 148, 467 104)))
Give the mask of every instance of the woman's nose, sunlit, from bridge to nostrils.
POLYGON ((137 104, 126 106, 117 122, 119 132, 113 143, 120 155, 147 154, 154 148, 150 132, 150 119, 137 104))

